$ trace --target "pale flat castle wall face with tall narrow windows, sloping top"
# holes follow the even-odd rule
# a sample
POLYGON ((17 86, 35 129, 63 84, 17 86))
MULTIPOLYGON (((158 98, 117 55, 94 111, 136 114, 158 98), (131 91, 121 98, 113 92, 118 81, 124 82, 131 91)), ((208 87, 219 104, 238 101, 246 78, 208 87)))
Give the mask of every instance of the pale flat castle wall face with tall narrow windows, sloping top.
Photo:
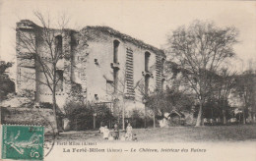
MULTIPOLYGON (((133 55, 133 87, 135 93, 135 99, 126 99, 125 108, 130 111, 134 108, 144 109, 144 104, 142 103, 142 93, 139 89, 140 85, 144 85, 144 76, 142 72, 145 71, 145 52, 150 52, 149 69, 153 74, 150 78, 149 90, 154 91, 157 86, 157 74, 156 74, 156 62, 157 54, 154 51, 146 50, 137 45, 123 41, 122 39, 108 34, 102 33, 98 30, 90 30, 89 35, 89 56, 87 59, 87 84, 88 84, 88 100, 95 100, 96 96, 98 101, 112 101, 112 95, 107 91, 106 80, 113 81, 113 70, 110 66, 113 63, 113 41, 118 40, 118 62, 119 62, 119 90, 127 91, 127 85, 122 85, 124 82, 124 77, 126 73, 126 61, 127 52, 131 52, 133 55), (137 87, 135 87, 137 86, 137 87)), ((131 55, 131 54, 130 54, 131 55)), ((127 83, 125 81, 124 83, 127 83)), ((122 100, 121 100, 122 101, 122 100)))

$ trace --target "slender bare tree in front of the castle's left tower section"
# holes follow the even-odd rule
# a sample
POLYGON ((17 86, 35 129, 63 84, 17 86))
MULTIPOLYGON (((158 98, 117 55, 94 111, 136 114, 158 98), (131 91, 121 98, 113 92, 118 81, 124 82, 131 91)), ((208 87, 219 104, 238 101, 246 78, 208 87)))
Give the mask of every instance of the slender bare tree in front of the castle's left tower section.
MULTIPOLYGON (((63 59, 69 59, 70 53, 68 47, 63 45, 62 39, 69 36, 67 26, 69 19, 63 15, 54 26, 53 21, 49 17, 44 17, 40 12, 34 12, 36 20, 40 23, 40 27, 32 24, 33 29, 30 27, 17 27, 17 57, 22 60, 31 59, 34 61, 34 68, 36 72, 42 75, 42 78, 24 75, 28 79, 34 79, 40 84, 44 84, 51 92, 52 95, 52 109, 57 121, 57 104, 56 104, 56 88, 58 82, 63 79, 59 74, 58 64, 63 59), (52 28, 52 27, 56 28, 52 28), (40 46, 40 47, 39 47, 40 46), (27 52, 24 52, 24 51, 27 52)), ((63 70, 63 69, 62 69, 63 70)), ((58 133, 58 128, 56 130, 58 133)))

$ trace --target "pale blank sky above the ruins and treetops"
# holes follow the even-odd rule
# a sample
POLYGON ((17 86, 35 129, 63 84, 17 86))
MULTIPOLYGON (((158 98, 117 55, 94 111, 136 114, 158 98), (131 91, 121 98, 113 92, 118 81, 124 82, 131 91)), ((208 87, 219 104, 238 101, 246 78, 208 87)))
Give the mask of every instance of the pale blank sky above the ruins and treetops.
POLYGON ((256 2, 253 1, 12 1, 0 0, 1 59, 15 61, 16 23, 36 22, 33 11, 70 17, 70 27, 108 26, 156 47, 166 42, 171 30, 193 20, 214 21, 220 27, 237 27, 237 56, 256 60, 256 2))

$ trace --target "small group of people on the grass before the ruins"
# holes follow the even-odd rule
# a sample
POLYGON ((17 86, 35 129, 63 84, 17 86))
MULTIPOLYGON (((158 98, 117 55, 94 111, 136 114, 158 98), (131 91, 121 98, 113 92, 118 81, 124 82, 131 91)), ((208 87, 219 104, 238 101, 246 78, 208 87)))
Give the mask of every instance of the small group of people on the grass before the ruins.
POLYGON ((130 123, 127 124, 125 128, 125 134, 119 133, 119 128, 117 124, 114 124, 113 131, 110 131, 107 126, 100 126, 99 133, 103 135, 103 139, 114 140, 135 140, 136 137, 133 134, 133 128, 130 123))

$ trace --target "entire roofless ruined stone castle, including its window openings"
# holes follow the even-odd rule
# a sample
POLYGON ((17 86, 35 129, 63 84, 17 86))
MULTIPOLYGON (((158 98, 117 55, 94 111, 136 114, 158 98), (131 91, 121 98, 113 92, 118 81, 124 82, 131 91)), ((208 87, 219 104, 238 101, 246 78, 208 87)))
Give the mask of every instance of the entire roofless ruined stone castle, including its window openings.
MULTIPOLYGON (((36 52, 47 60, 44 42, 38 38, 42 28, 24 20, 17 23, 17 29, 33 35, 36 52)), ((18 44, 20 36, 17 34, 18 44)), ((55 42, 61 52, 70 55, 58 63, 59 107, 77 96, 74 99, 105 102, 116 109, 123 99, 120 93, 124 92, 127 111, 144 110, 143 95, 163 88, 165 55, 141 40, 110 27, 84 27, 79 31, 66 29, 62 34, 56 31, 55 42), (81 49, 81 45, 86 47, 81 49)), ((17 92, 38 102, 51 102, 50 90, 38 81, 45 77, 31 52, 21 46, 17 48, 17 92)))

